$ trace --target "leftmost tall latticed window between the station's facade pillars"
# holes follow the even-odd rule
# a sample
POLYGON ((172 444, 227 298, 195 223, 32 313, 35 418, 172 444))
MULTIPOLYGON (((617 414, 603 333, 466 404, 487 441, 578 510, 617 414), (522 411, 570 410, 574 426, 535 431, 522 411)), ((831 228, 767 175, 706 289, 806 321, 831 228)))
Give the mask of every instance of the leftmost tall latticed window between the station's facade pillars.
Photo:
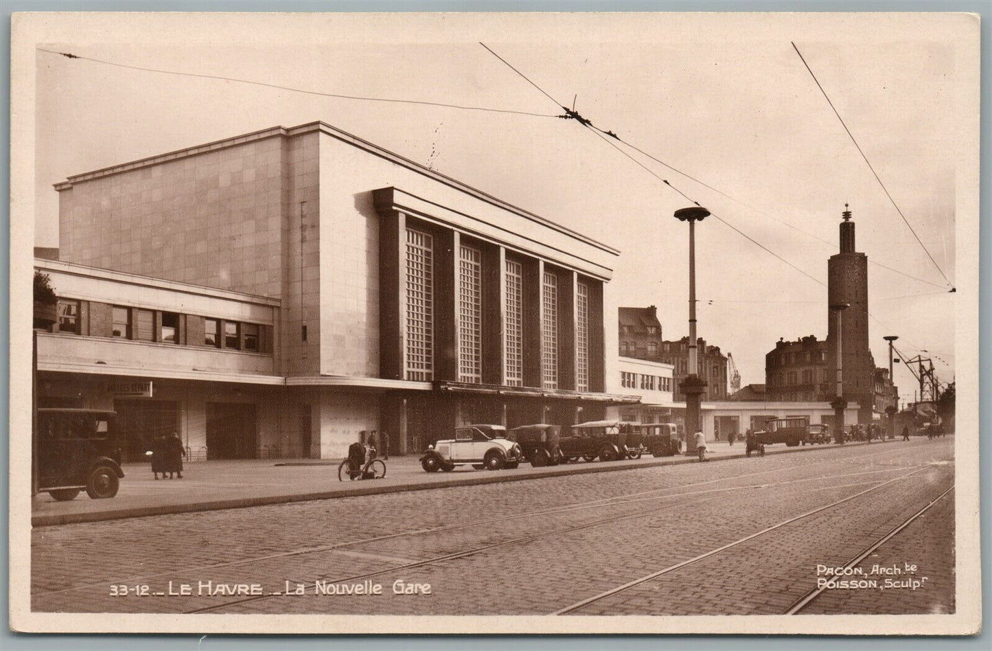
POLYGON ((434 379, 434 238, 407 229, 407 379, 434 379))

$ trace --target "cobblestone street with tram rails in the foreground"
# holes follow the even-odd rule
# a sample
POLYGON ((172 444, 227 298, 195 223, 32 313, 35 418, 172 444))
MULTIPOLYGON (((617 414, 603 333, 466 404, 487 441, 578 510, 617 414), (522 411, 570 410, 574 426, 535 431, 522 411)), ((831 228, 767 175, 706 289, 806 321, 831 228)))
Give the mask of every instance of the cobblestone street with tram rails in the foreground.
POLYGON ((33 607, 775 614, 919 513, 841 577, 877 586, 800 613, 951 612, 952 455, 952 438, 917 439, 42 527, 33 607))

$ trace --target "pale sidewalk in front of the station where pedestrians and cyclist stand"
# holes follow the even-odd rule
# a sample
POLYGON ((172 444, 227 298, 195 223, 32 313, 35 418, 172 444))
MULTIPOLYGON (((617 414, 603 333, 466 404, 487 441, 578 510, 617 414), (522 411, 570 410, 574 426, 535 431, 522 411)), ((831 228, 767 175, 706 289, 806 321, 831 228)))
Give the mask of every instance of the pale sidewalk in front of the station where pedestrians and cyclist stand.
MULTIPOLYGON (((869 444, 847 444, 869 445, 869 444)), ((878 443, 870 444, 878 445, 878 443)), ((713 460, 744 456, 744 445, 709 443, 713 460)), ((825 450, 836 446, 787 448, 770 446, 768 455, 825 450)), ((263 504, 350 497, 374 493, 425 490, 446 486, 519 481, 536 477, 586 472, 609 472, 637 467, 698 462, 694 456, 643 456, 624 461, 578 461, 557 466, 531 467, 524 463, 514 470, 476 470, 459 467, 452 472, 425 472, 419 456, 392 456, 382 479, 338 481, 341 459, 244 459, 186 463, 183 479, 158 479, 148 463, 125 463, 120 491, 112 499, 90 499, 85 491, 68 502, 58 502, 48 493, 32 504, 36 527, 96 522, 120 518, 186 513, 263 504)))

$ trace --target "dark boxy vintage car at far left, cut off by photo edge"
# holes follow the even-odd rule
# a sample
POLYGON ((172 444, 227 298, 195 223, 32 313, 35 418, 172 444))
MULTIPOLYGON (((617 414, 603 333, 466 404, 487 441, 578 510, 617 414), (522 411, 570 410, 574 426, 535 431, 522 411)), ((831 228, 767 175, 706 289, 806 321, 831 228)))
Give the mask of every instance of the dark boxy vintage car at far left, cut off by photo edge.
POLYGON ((124 471, 112 411, 38 410, 39 490, 59 501, 85 490, 92 499, 117 494, 124 471))

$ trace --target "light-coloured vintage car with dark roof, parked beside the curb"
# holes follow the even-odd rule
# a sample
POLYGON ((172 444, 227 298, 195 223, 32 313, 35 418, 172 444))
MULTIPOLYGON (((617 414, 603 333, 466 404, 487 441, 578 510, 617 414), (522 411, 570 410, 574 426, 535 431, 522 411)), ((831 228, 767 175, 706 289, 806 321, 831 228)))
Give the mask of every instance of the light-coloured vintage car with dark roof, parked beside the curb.
POLYGON ((502 425, 466 425, 455 428, 454 439, 429 446, 421 466, 428 472, 450 472, 456 465, 499 470, 517 467, 523 457, 520 445, 506 438, 502 425))

